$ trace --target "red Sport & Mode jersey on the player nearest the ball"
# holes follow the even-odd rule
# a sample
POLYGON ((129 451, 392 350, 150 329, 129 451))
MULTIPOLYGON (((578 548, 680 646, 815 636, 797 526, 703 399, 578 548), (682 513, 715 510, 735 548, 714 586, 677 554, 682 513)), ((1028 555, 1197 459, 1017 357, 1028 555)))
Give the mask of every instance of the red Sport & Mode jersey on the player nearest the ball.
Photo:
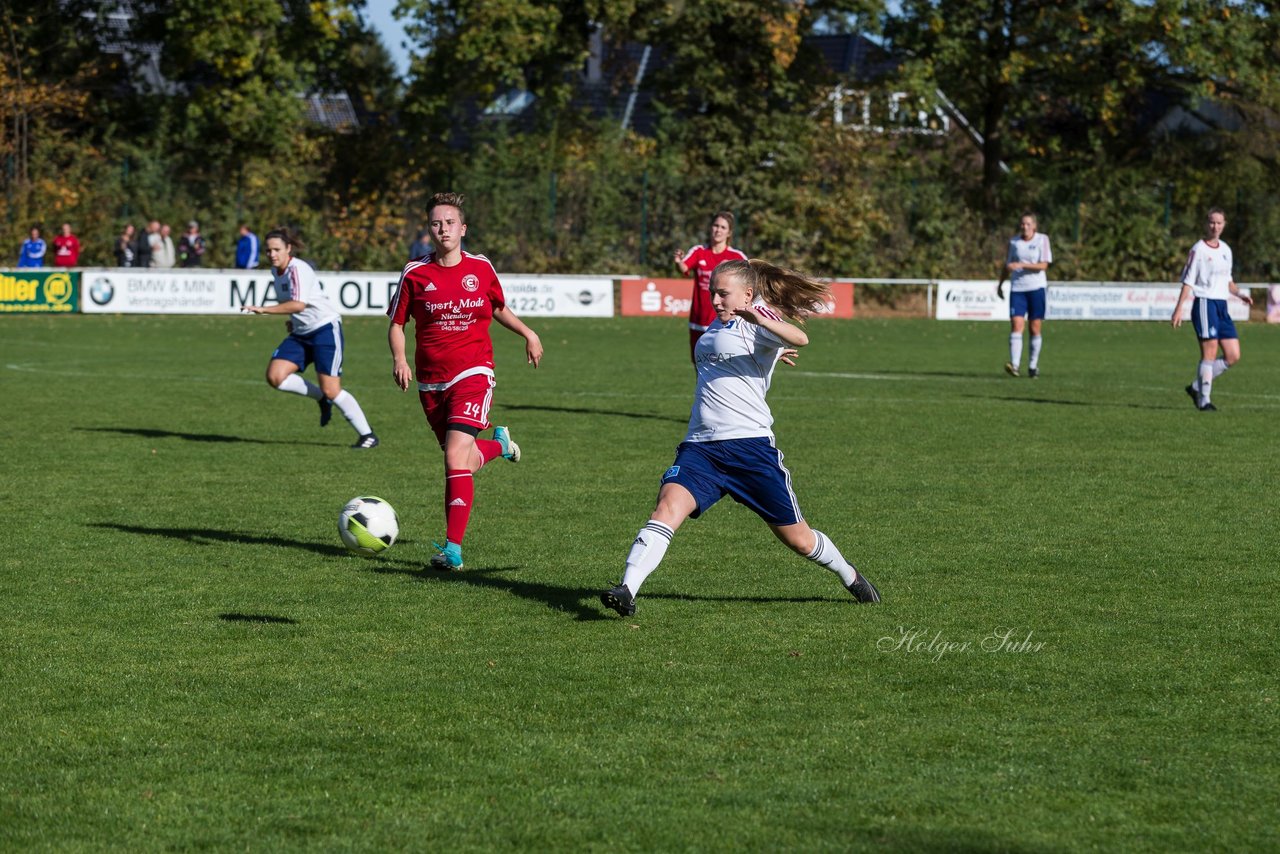
POLYGON ((401 325, 413 319, 417 382, 448 384, 463 374, 493 375, 489 324, 504 305, 489 259, 463 252, 458 264, 440 266, 431 252, 404 265, 387 316, 401 325))

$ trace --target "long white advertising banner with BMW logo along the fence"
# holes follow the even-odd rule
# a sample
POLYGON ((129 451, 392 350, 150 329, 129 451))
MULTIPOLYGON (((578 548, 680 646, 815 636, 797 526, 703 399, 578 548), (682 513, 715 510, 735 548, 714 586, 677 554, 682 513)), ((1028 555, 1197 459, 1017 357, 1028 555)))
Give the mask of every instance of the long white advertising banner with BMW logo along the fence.
MULTIPOLYGON (((320 287, 343 315, 384 315, 399 271, 317 270, 320 287)), ((608 318, 613 279, 590 275, 502 275, 503 293, 520 316, 608 318)), ((237 314, 276 305, 269 270, 88 269, 82 274, 90 314, 237 314)))

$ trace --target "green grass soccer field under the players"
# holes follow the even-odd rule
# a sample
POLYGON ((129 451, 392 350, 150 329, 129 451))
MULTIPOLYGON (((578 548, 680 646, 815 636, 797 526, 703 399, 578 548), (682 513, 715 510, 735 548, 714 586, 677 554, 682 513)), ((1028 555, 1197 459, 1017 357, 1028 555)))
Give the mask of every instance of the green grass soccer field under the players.
POLYGON ((262 382, 278 320, 0 318, 0 849, 1280 849, 1280 329, 1199 414, 1188 328, 1051 324, 1033 382, 1004 324, 815 321, 778 444, 883 604, 722 502, 622 620, 682 324, 532 324, 445 575, 383 321, 352 452, 262 382))

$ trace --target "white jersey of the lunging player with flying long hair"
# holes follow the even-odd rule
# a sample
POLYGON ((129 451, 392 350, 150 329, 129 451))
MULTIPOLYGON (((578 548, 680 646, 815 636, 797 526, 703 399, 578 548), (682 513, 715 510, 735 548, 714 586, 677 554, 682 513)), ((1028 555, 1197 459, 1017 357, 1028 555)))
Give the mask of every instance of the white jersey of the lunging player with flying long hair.
MULTIPOLYGON (((782 319, 762 302, 753 307, 763 316, 782 319)), ((773 412, 764 396, 783 347, 782 339, 754 323, 714 320, 694 348, 698 385, 685 442, 772 439, 773 412)))

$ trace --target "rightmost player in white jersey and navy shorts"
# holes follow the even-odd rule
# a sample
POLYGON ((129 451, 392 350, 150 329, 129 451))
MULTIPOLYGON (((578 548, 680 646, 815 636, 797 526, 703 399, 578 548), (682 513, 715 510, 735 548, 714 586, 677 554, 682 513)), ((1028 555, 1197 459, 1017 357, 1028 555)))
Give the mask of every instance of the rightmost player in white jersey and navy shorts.
POLYGON ((1174 329, 1183 323, 1183 310, 1187 301, 1192 302, 1192 325, 1199 341, 1201 359, 1196 369, 1196 379, 1187 387, 1187 394, 1201 412, 1216 412, 1217 407, 1210 399, 1213 380, 1228 367, 1240 361, 1240 338, 1235 334, 1235 323, 1228 314, 1226 301, 1230 294, 1253 305, 1253 298, 1240 291, 1231 279, 1231 247, 1222 241, 1226 228, 1226 214, 1221 207, 1210 207, 1204 219, 1204 237, 1196 241, 1187 266, 1183 268, 1183 289, 1178 294, 1178 305, 1170 323, 1174 329), (1222 343, 1222 356, 1219 357, 1219 342, 1222 343))

